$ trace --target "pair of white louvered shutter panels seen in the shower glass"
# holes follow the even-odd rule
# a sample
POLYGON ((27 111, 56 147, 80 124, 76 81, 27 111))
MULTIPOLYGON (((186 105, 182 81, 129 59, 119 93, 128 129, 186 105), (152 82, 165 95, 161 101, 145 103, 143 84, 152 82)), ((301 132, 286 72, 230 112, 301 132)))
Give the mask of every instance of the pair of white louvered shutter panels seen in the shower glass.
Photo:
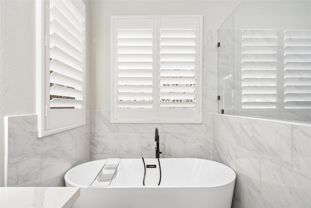
POLYGON ((311 108, 311 31, 283 32, 242 30, 242 109, 311 108), (284 39, 284 65, 277 57, 279 38, 284 39))

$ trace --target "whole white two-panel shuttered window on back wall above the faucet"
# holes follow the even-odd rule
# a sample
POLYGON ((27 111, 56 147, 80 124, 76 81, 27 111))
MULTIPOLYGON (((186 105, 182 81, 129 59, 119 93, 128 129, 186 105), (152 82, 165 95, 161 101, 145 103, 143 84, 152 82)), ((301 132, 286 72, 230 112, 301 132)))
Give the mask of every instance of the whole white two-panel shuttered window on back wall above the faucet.
POLYGON ((111 122, 202 123, 202 16, 111 17, 111 122))

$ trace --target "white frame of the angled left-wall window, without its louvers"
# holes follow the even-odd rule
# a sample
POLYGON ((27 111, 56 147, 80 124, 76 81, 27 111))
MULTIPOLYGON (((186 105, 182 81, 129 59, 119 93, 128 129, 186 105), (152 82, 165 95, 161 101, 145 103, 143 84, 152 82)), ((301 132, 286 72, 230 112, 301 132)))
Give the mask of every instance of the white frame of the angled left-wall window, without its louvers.
POLYGON ((82 108, 52 109, 53 112, 50 109, 49 5, 49 0, 36 1, 36 113, 39 138, 86 124, 86 58, 83 67, 82 108))

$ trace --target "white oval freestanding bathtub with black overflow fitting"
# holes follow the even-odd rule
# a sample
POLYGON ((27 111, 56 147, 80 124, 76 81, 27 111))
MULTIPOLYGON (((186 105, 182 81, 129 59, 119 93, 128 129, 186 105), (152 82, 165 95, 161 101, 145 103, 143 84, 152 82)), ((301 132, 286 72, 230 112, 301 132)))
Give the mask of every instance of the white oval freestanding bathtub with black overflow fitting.
POLYGON ((120 159, 108 187, 89 187, 106 160, 78 165, 65 174, 66 186, 80 187, 72 208, 230 208, 235 172, 224 164, 195 158, 120 159), (150 167, 150 166, 149 166, 150 167), (151 166, 154 167, 154 166, 151 166))

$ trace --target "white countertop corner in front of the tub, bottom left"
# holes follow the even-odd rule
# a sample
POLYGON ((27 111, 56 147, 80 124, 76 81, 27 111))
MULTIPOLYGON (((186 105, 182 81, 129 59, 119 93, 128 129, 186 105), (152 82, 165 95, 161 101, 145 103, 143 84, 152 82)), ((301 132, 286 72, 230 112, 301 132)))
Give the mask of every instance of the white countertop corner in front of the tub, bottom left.
POLYGON ((79 187, 0 187, 0 208, 70 208, 79 187))

